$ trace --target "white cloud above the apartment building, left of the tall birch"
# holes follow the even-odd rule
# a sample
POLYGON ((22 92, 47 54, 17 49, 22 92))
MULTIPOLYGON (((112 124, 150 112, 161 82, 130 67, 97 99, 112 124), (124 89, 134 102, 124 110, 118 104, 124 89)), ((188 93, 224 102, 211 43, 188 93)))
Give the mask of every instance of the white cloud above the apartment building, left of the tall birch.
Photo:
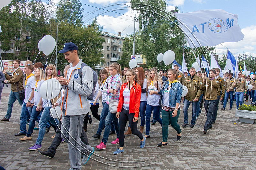
MULTIPOLYGON (((139 14, 136 12, 136 16, 139 14)), ((134 32, 134 18, 129 17, 134 16, 134 12, 132 10, 128 10, 124 15, 120 16, 107 16, 100 15, 97 17, 97 20, 101 26, 103 26, 103 30, 111 33, 122 32, 122 35, 132 34, 134 32), (127 16, 128 15, 128 16, 127 16)), ((139 24, 136 23, 136 30, 138 30, 139 24)))

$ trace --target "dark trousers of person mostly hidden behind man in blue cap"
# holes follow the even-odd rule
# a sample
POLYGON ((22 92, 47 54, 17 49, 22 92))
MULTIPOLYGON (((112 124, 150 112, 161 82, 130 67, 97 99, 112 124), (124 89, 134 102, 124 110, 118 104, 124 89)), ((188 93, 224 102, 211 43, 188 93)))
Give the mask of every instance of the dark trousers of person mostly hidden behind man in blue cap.
MULTIPOLYGON (((88 113, 87 113, 87 114, 88 114, 88 113)), ((59 128, 61 129, 61 121, 59 121, 58 126, 59 126, 59 128)), ((57 128, 55 138, 53 139, 51 146, 48 148, 48 151, 49 151, 51 154, 53 154, 53 156, 55 155, 56 149, 59 147, 59 145, 60 145, 60 143, 61 143, 61 140, 62 140, 61 131, 57 128)), ((85 143, 86 145, 89 145, 89 143, 88 143, 88 138, 87 138, 87 135, 86 135, 86 133, 85 133, 84 130, 82 130, 81 141, 82 141, 83 143, 85 143)))

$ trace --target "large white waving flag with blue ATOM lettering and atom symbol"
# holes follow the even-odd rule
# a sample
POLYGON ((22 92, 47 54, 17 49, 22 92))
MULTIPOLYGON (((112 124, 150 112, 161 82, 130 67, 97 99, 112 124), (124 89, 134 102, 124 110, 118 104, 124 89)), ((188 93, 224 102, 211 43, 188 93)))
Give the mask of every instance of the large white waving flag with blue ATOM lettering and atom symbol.
POLYGON ((221 9, 174 13, 190 47, 216 46, 244 38, 237 14, 221 9), (193 44, 194 43, 194 44, 193 44))

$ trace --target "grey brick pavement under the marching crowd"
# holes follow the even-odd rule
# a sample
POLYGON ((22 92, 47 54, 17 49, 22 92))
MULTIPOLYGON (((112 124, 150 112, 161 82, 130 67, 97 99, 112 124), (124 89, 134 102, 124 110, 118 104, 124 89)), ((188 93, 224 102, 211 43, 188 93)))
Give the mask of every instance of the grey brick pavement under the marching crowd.
MULTIPOLYGON (((6 113, 7 101, 8 96, 3 95, 0 117, 6 113)), ((155 146, 162 141, 161 126, 158 123, 151 125, 150 138, 146 140, 146 147, 143 149, 139 147, 138 137, 130 135, 125 138, 125 151, 114 155, 113 152, 119 145, 110 143, 116 138, 116 135, 111 135, 107 149, 96 150, 94 153, 97 155, 83 165, 82 169, 256 169, 256 125, 240 123, 235 117, 235 109, 222 111, 220 108, 221 105, 217 121, 213 124, 213 129, 207 131, 207 135, 202 133, 204 113, 200 115, 193 129, 189 126, 182 128, 180 141, 176 141, 177 134, 170 127, 168 145, 164 147, 155 146)), ((70 164, 67 143, 61 143, 54 159, 49 159, 37 151, 28 150, 34 145, 38 131, 34 131, 30 141, 19 141, 20 137, 14 136, 19 132, 20 110, 21 106, 15 102, 10 121, 0 122, 0 166, 19 170, 68 170, 70 164)), ((99 113, 101 110, 102 105, 99 113)), ((190 120, 191 112, 192 107, 189 108, 190 120)), ((183 124, 182 113, 179 118, 180 125, 183 124)), ((87 136, 90 145, 94 147, 101 141, 91 137, 96 133, 98 124, 95 118, 92 124, 88 124, 87 136)), ((45 135, 41 150, 46 150, 50 146, 52 135, 53 128, 45 135)))

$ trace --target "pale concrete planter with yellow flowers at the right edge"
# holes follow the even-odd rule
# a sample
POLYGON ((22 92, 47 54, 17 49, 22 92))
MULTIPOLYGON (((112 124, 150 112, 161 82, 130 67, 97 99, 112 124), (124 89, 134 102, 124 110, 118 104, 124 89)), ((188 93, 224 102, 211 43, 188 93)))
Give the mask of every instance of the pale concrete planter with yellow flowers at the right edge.
POLYGON ((256 111, 236 110, 236 117, 239 117, 240 122, 254 124, 256 119, 256 111))

